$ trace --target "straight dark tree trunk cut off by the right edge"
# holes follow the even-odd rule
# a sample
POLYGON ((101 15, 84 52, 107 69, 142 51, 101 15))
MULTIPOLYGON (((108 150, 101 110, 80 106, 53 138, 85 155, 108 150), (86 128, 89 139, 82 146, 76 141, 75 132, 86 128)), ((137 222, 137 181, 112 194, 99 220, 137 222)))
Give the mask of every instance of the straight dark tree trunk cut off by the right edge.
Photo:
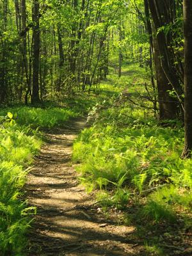
POLYGON ((185 142, 182 157, 191 157, 192 150, 192 1, 184 0, 184 91, 185 142))

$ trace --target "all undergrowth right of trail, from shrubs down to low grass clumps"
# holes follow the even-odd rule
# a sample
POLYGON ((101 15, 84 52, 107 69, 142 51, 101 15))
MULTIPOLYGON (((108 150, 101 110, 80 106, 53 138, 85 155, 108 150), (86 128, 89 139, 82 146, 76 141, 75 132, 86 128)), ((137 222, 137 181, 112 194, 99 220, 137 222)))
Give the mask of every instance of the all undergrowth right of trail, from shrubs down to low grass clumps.
MULTIPOLYGON (((178 120, 159 124, 152 102, 141 104, 138 95, 147 95, 143 77, 142 70, 141 76, 125 78, 127 88, 122 84, 123 90, 131 92, 131 100, 120 93, 111 97, 108 108, 103 104, 99 114, 97 106, 92 109, 95 122, 74 143, 73 161, 78 163, 79 179, 88 192, 97 191, 97 201, 104 209, 126 212, 134 202, 142 223, 177 223, 182 218, 189 228, 192 160, 180 159, 183 127, 178 120)), ((116 84, 122 80, 116 78, 116 84)))

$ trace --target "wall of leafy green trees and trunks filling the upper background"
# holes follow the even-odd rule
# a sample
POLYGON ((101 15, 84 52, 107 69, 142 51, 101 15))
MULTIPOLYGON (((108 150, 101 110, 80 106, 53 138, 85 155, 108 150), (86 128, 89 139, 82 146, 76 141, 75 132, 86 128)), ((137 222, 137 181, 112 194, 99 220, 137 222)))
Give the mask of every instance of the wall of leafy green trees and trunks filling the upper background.
POLYGON ((182 1, 1 1, 1 17, 2 104, 90 90, 124 60, 154 66, 160 118, 182 115, 182 1))

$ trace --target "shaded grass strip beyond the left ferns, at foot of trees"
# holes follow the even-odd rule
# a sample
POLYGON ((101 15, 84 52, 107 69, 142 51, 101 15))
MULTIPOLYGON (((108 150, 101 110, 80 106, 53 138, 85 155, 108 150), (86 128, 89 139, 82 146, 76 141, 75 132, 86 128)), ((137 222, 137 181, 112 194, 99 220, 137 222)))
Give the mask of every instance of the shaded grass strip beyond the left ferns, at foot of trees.
POLYGON ((63 125, 69 118, 83 116, 95 106, 97 102, 101 103, 105 99, 113 97, 119 92, 115 86, 109 83, 102 83, 94 91, 79 92, 72 97, 60 99, 60 103, 43 102, 40 106, 11 106, 0 109, 0 116, 6 113, 13 113, 15 122, 19 125, 30 126, 33 129, 52 128, 63 125))

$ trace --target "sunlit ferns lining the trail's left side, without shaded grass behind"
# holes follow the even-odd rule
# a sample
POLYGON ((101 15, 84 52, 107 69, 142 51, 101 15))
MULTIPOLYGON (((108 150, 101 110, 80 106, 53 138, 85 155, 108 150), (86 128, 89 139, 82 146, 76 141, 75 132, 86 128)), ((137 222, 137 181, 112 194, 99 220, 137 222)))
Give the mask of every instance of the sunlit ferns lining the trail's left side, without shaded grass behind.
POLYGON ((37 131, 20 127, 8 113, 0 126, 0 252, 1 255, 24 255, 29 215, 35 208, 21 202, 26 167, 37 154, 41 141, 37 131))

